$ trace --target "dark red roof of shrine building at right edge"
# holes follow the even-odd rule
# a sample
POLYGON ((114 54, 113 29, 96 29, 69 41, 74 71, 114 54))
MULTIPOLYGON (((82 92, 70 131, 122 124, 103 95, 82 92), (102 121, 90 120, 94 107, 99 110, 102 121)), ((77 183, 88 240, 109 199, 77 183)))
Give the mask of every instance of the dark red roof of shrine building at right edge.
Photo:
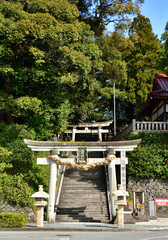
POLYGON ((146 102, 139 109, 138 113, 142 116, 151 115, 151 109, 161 100, 168 99, 168 76, 166 74, 155 73, 153 79, 153 89, 149 93, 146 102))

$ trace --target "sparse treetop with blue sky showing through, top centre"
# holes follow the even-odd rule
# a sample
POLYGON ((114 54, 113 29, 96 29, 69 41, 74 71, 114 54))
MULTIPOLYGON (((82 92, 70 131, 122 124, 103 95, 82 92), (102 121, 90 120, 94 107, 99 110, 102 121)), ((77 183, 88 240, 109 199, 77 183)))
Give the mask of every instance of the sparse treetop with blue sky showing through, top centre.
POLYGON ((77 6, 82 21, 101 36, 111 22, 119 28, 126 26, 130 22, 128 15, 138 14, 142 3, 144 0, 79 0, 77 6))

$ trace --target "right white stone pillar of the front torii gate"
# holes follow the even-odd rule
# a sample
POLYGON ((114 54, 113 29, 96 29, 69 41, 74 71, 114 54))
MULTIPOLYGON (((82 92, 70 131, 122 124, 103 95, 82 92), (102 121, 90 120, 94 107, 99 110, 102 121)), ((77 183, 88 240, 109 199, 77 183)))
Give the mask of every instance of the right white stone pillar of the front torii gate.
MULTIPOLYGON (((107 150, 107 157, 114 156, 114 150, 109 149, 107 150)), ((108 164, 108 175, 109 175, 109 187, 110 187, 110 200, 111 200, 111 213, 112 218, 116 217, 116 208, 115 200, 116 196, 112 196, 112 193, 117 190, 117 178, 116 178, 116 169, 115 169, 115 163, 114 161, 110 162, 108 164)))

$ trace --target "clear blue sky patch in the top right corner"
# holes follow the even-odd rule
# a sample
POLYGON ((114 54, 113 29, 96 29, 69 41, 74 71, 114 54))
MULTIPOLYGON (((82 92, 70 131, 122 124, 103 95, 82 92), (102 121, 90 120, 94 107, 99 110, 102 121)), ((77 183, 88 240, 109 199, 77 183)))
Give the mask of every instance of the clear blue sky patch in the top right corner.
POLYGON ((153 32, 160 39, 168 22, 168 0, 145 0, 141 14, 150 19, 153 32))

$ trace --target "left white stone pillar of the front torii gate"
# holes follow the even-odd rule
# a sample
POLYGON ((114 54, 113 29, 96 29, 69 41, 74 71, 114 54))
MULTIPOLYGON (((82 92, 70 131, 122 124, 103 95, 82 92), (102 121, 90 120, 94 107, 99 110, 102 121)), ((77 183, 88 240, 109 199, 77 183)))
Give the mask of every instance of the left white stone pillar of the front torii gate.
MULTIPOLYGON (((52 150, 50 152, 52 157, 58 157, 58 151, 52 150)), ((56 182, 57 182, 57 163, 50 162, 50 176, 49 176, 49 200, 47 209, 47 221, 49 223, 55 222, 56 214, 54 212, 55 207, 55 195, 56 195, 56 182)))

